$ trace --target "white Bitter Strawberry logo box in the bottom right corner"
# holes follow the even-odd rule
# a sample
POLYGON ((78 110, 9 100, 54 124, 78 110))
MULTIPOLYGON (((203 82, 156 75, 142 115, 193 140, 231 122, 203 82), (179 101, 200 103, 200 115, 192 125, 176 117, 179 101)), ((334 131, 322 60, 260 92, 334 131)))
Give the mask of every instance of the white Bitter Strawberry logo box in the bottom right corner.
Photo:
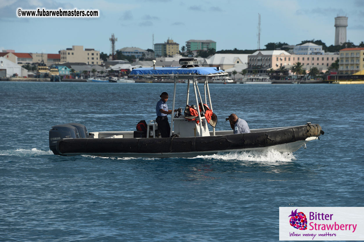
POLYGON ((279 240, 362 241, 364 207, 279 207, 279 240), (296 209, 306 215, 305 230, 290 225, 290 215, 296 209))

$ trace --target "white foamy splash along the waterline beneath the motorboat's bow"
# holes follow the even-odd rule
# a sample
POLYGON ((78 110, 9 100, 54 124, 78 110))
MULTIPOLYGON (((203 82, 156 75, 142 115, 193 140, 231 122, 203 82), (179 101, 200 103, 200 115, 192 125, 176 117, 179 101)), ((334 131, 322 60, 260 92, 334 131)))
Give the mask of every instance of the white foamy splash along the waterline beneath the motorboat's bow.
POLYGON ((210 156, 197 156, 190 159, 203 158, 209 160, 224 161, 256 161, 256 162, 289 162, 296 160, 292 153, 280 153, 276 150, 269 150, 264 153, 258 152, 231 152, 218 153, 210 156))

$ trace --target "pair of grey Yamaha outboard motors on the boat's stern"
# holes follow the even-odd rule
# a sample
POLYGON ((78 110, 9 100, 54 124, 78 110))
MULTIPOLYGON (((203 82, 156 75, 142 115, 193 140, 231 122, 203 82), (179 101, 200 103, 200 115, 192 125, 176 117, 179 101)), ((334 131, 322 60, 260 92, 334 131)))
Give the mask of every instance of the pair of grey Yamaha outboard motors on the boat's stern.
POLYGON ((49 148, 56 155, 60 155, 57 152, 57 141, 63 138, 88 138, 88 131, 83 124, 60 124, 52 126, 49 130, 49 148))

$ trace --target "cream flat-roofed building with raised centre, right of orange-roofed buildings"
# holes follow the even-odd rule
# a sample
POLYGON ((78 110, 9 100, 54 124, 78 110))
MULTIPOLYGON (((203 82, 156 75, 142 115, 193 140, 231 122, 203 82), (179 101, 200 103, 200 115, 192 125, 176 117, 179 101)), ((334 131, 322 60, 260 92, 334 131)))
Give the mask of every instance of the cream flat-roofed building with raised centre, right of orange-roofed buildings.
POLYGON ((82 45, 72 45, 72 48, 60 51, 61 62, 81 62, 88 65, 99 65, 103 61, 100 59, 100 51, 95 49, 83 50, 82 45))

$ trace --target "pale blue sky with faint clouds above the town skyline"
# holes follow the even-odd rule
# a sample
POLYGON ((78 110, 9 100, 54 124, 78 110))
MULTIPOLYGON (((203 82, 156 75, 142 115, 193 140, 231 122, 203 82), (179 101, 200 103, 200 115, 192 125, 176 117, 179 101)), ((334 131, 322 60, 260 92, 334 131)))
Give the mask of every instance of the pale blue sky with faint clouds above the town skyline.
POLYGON ((268 42, 298 44, 321 39, 334 44, 334 18, 346 15, 347 39, 364 41, 364 0, 0 0, 0 48, 16 52, 58 53, 72 45, 110 53, 116 49, 152 48, 173 39, 211 39, 221 49, 256 49, 258 13, 261 48, 268 42), (16 8, 99 9, 97 19, 19 19, 16 8), (6 31, 4 31, 6 30, 6 31))

